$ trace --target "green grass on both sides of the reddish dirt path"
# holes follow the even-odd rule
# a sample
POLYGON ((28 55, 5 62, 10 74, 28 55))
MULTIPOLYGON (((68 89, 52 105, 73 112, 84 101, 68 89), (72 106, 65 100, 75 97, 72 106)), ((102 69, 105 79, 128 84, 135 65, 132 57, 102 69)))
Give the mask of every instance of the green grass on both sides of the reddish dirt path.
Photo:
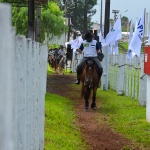
MULTIPOLYGON (((50 69, 50 68, 49 68, 50 69)), ((74 88, 79 86, 73 85, 74 88)), ((146 108, 137 100, 117 96, 116 91, 98 89, 99 113, 118 133, 133 141, 141 150, 150 149, 150 123, 146 121, 146 108)), ((66 98, 46 94, 45 150, 85 150, 86 145, 76 127, 74 104, 66 98)), ((101 121, 98 118, 98 121, 101 121)))

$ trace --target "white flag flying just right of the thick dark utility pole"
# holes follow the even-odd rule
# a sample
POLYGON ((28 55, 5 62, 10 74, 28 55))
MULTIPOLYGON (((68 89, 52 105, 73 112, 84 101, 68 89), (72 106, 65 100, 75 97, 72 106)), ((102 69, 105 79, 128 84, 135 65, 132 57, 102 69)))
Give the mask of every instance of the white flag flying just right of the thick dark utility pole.
POLYGON ((121 19, 118 17, 113 29, 106 36, 106 43, 113 44, 115 41, 122 38, 121 19))

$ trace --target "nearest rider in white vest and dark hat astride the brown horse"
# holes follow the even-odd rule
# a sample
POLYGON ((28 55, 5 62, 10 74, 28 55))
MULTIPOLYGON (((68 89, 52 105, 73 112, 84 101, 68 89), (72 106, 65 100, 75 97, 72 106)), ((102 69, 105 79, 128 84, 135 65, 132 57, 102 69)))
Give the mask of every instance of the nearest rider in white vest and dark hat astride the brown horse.
POLYGON ((84 41, 77 51, 78 52, 83 51, 83 59, 81 60, 80 64, 77 66, 77 81, 75 82, 75 84, 80 84, 80 76, 82 74, 83 64, 85 63, 86 60, 91 58, 95 61, 98 67, 98 76, 99 76, 98 87, 99 87, 103 68, 98 59, 98 55, 102 52, 100 50, 98 42, 94 40, 94 35, 91 32, 87 32, 85 34, 84 41))

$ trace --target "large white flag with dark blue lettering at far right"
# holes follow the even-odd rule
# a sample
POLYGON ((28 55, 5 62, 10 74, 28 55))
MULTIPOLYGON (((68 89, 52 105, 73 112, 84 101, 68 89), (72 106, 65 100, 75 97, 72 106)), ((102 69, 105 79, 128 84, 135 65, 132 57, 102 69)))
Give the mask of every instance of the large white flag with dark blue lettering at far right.
POLYGON ((132 58, 135 55, 140 57, 143 34, 144 34, 144 13, 138 21, 134 35, 129 45, 129 52, 132 53, 132 58))

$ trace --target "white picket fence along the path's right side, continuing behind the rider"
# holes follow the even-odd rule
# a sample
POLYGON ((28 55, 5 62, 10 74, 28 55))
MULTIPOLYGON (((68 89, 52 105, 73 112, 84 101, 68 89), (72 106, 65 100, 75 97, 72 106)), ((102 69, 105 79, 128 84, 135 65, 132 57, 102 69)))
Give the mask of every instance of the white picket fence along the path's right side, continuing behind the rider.
MULTIPOLYGON (((103 52, 102 90, 109 88, 117 91, 118 95, 138 100, 141 106, 146 106, 146 119, 150 122, 150 75, 144 73, 144 54, 140 58, 135 56, 129 60, 126 54, 108 54, 107 47, 103 52)), ((74 57, 73 72, 76 72, 76 66, 82 57, 82 54, 74 57)))

